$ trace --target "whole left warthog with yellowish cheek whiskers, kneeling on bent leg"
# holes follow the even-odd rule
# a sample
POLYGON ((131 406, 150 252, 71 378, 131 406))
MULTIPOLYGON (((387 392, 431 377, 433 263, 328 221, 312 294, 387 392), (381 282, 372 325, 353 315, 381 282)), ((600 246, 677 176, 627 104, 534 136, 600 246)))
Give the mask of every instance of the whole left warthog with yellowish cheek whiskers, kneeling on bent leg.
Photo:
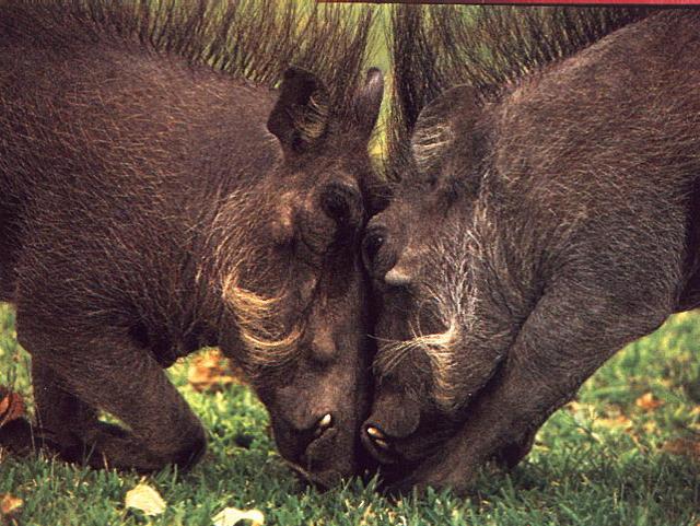
POLYGON ((205 431, 163 369, 220 346, 284 458, 322 484, 355 471, 383 81, 354 14, 0 7, 0 300, 32 355, 35 432, 63 458, 196 461, 205 431))

